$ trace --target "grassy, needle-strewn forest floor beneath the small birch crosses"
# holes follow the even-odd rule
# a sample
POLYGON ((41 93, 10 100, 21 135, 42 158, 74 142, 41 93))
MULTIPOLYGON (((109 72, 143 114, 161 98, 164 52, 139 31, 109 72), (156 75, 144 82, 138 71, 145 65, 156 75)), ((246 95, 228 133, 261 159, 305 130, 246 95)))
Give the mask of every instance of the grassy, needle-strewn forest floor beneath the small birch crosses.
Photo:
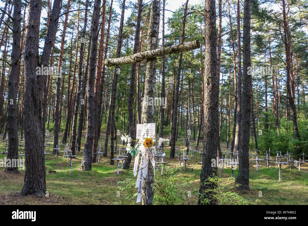
MULTIPOLYGON (((194 142, 192 141, 192 144, 194 142)), ((3 143, 0 143, 2 151, 5 147, 3 143)), ((99 143, 103 146, 102 142, 99 143)), ((184 147, 180 139, 176 142, 176 146, 179 145, 184 147)), ((164 161, 169 162, 166 166, 178 167, 178 159, 169 159, 170 147, 168 145, 165 147, 164 161)), ((61 150, 63 149, 64 145, 61 145, 61 150)), ((52 153, 51 147, 50 151, 47 148, 46 152, 52 153)), ((120 197, 117 194, 119 194, 119 181, 134 178, 131 173, 133 164, 130 170, 122 170, 120 163, 120 175, 116 175, 116 161, 115 165, 110 165, 110 154, 108 153, 107 157, 101 156, 100 163, 92 164, 92 171, 82 171, 80 170, 82 155, 83 153, 78 153, 73 159, 72 173, 69 173, 70 163, 67 158, 63 159, 62 153, 58 157, 46 155, 46 187, 49 196, 43 198, 18 197, 24 184, 25 170, 21 170, 20 174, 7 174, 1 167, 0 204, 114 204, 116 202, 132 204, 132 200, 125 199, 125 192, 120 191, 120 197), (50 174, 49 171, 56 171, 56 173, 50 174)), ((5 157, 5 154, 0 154, 0 159, 5 157)), ((260 159, 263 159, 263 156, 260 156, 260 159)), ((260 162, 259 172, 256 172, 256 162, 253 164, 252 158, 249 161, 249 191, 237 191, 235 188, 230 188, 234 185, 234 181, 227 182, 231 176, 231 169, 225 169, 225 172, 222 172, 222 169, 218 168, 218 176, 226 182, 221 184, 225 191, 237 192, 238 195, 252 202, 259 199, 260 202, 257 204, 308 204, 308 163, 301 165, 301 171, 298 171, 298 167, 295 166, 293 170, 290 170, 290 165, 282 165, 282 181, 279 182, 279 168, 274 166, 274 161, 270 162, 270 168, 265 167, 266 161, 260 162), (262 192, 261 197, 259 196, 260 191, 262 192)), ((285 162, 286 158, 282 161, 285 162)), ((195 158, 191 157, 191 161, 187 161, 186 171, 184 169, 177 171, 177 174, 181 173, 182 176, 191 178, 188 184, 181 187, 183 191, 190 191, 192 194, 188 204, 197 204, 198 197, 193 192, 198 191, 200 186, 201 165, 198 165, 198 162, 201 161, 199 154, 196 154, 195 158)), ((156 171, 156 175, 159 173, 159 170, 156 171)), ((234 170, 234 177, 237 173, 238 168, 234 170)))

